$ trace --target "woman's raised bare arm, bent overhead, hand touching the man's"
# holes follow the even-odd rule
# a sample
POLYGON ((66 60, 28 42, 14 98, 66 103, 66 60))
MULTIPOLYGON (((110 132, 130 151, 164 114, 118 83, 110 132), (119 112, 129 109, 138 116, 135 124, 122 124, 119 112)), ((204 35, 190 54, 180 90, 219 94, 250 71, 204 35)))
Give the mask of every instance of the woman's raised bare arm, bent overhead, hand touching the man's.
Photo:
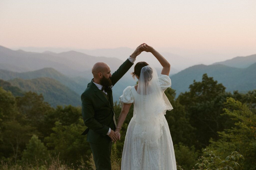
POLYGON ((153 47, 144 43, 141 48, 146 52, 152 53, 156 57, 156 59, 160 62, 160 64, 163 66, 161 74, 169 76, 170 67, 171 67, 170 63, 160 53, 158 53, 153 47))

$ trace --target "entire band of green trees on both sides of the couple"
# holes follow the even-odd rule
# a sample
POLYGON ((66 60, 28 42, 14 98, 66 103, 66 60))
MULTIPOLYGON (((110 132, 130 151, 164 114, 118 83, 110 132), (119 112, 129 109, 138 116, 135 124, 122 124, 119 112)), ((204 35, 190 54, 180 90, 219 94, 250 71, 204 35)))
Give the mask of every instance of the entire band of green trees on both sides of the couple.
MULTIPOLYGON (((227 93, 222 84, 204 74, 201 82, 194 81, 178 97, 172 88, 165 94, 174 108, 165 117, 177 169, 256 169, 256 90, 227 93)), ((120 103, 114 104, 114 111, 118 119, 120 103)), ((117 169, 132 116, 133 106, 122 126, 121 140, 113 145, 112 163, 117 169)), ((91 169, 90 146, 81 135, 85 129, 81 107, 52 108, 42 95, 26 92, 14 97, 0 87, 0 157, 4 161, 14 158, 16 167, 26 162, 47 168, 91 169)))

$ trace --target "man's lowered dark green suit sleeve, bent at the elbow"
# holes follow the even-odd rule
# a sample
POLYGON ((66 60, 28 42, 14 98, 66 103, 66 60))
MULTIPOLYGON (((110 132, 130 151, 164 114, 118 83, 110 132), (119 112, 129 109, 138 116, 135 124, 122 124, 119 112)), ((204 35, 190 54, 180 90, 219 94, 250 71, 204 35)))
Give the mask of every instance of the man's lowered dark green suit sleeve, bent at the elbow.
POLYGON ((99 123, 94 118, 94 108, 92 105, 92 101, 86 95, 82 95, 81 100, 82 100, 82 116, 83 116, 84 125, 92 129, 94 132, 97 132, 105 136, 109 131, 109 127, 99 123))

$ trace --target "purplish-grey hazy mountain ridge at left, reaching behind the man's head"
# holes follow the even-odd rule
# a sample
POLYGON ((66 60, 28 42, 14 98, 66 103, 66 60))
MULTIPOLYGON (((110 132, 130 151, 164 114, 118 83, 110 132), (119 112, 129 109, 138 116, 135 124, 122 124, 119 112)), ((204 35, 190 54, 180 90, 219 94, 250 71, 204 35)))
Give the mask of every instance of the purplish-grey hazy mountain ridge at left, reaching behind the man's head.
MULTIPOLYGON (((0 63, 30 71, 51 67, 68 76, 82 75, 86 77, 87 72, 91 72, 91 68, 96 62, 105 62, 114 70, 123 63, 117 58, 93 57, 76 51, 32 53, 23 50, 14 51, 0 46, 0 63)), ((1 65, 0 68, 9 70, 6 67, 1 67, 1 65)))

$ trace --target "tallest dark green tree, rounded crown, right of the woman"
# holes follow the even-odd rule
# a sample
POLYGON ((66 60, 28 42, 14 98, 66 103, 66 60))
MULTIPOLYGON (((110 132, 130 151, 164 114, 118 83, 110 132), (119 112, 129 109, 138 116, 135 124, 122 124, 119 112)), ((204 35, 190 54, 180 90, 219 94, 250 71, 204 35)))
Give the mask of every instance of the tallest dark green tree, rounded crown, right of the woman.
POLYGON ((209 144, 209 139, 218 138, 217 131, 225 128, 227 116, 223 113, 223 103, 231 95, 225 92, 225 87, 218 84, 207 74, 202 76, 202 82, 189 86, 190 91, 179 95, 179 102, 189 115, 190 124, 196 128, 193 145, 201 149, 209 144))

